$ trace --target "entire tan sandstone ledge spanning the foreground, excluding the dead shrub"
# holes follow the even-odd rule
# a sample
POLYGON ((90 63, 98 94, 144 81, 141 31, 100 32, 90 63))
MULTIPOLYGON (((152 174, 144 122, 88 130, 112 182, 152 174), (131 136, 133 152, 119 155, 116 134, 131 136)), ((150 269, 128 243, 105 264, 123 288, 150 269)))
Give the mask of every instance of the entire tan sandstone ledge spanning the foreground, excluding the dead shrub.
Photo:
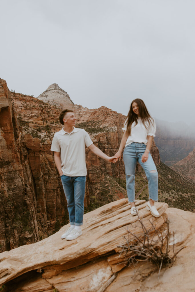
MULTIPOLYGON (((0 284, 9 292, 114 292, 125 291, 194 291, 195 214, 168 208, 157 203, 161 214, 153 218, 143 200, 136 201, 144 225, 158 228, 170 219, 170 234, 175 232, 175 249, 186 246, 169 269, 162 269, 161 277, 150 263, 140 262, 141 269, 134 277, 132 267, 120 263, 120 248, 128 236, 127 228, 142 236, 137 216, 130 215, 130 204, 121 199, 84 215, 83 235, 74 241, 61 240, 60 231, 34 244, 20 246, 0 254, 0 284), (167 209, 168 208, 168 209, 167 209), (152 273, 153 272, 153 273, 152 273), (149 275, 152 274, 150 277, 149 275), (181 281, 181 284, 180 284, 181 281), (162 284, 162 285, 161 285, 162 284)), ((170 247, 173 239, 170 239, 170 247)))

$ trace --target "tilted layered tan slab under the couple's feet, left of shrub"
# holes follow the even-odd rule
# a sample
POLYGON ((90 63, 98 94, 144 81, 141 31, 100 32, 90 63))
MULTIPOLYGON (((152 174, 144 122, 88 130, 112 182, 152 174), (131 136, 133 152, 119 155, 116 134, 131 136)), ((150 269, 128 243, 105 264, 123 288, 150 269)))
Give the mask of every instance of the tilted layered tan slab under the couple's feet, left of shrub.
MULTIPOLYGON (((146 210, 144 200, 137 200, 136 205, 146 228, 151 227, 149 219, 153 221, 156 228, 165 223, 167 217, 164 212, 168 207, 166 203, 156 204, 157 210, 161 214, 159 218, 153 218, 151 213, 146 210)), ((121 199, 85 214, 83 234, 74 241, 61 240, 61 234, 68 227, 64 226, 56 234, 42 241, 1 253, 1 284, 9 281, 7 285, 13 287, 13 281, 15 281, 13 279, 41 268, 42 279, 57 288, 59 292, 98 291, 102 285, 105 285, 106 288, 106 283, 109 283, 111 277, 115 275, 113 267, 109 265, 107 259, 112 254, 120 253, 119 246, 125 242, 123 236, 128 235, 127 228, 136 233, 138 237, 143 235, 141 228, 137 228, 136 217, 130 215, 130 204, 127 199, 121 199), (87 269, 94 272, 88 273, 87 269), (75 273, 77 277, 74 276, 75 273), (73 281, 70 284, 71 277, 73 281), (97 277, 99 277, 99 281, 95 281, 97 277), (67 288, 67 285, 70 287, 67 288), (79 290, 78 287, 83 288, 79 290)), ((30 281, 33 283, 34 278, 32 277, 30 281)), ((26 282, 25 285, 27 285, 26 282)), ((14 288, 9 291, 28 291, 16 289, 15 284, 14 288)))

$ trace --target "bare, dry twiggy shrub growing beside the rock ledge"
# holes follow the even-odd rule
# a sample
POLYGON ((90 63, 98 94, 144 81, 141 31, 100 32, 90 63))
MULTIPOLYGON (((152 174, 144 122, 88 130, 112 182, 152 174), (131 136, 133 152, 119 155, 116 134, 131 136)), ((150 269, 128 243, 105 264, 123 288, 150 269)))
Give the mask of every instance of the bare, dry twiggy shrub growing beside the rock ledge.
MULTIPOLYGON (((137 214, 137 225, 136 227, 139 227, 143 231, 143 236, 139 238, 136 234, 129 231, 127 229, 128 237, 124 236, 124 239, 126 243, 118 246, 121 248, 120 255, 123 255, 125 260, 125 265, 135 265, 140 261, 150 261, 151 263, 154 263, 156 265, 156 268, 158 269, 158 279, 160 276, 161 268, 167 267, 170 264, 172 264, 177 254, 184 248, 180 248, 177 252, 174 250, 175 246, 175 236, 173 233, 173 247, 172 252, 173 255, 170 256, 170 250, 169 250, 169 221, 167 220, 165 222, 163 231, 161 230, 162 227, 156 227, 153 224, 153 221, 149 220, 151 223, 151 227, 149 229, 146 229, 144 226, 143 220, 139 217, 137 214)), ((133 226, 132 226, 133 227, 133 226)), ((135 227, 133 227, 135 228, 135 227)))

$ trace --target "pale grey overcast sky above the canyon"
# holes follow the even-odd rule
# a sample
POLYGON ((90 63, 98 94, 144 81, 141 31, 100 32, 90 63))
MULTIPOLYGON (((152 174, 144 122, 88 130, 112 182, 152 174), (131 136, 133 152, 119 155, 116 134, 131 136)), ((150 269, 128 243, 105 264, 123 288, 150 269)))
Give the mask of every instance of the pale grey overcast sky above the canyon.
POLYGON ((194 123, 194 0, 1 1, 0 77, 37 97, 57 83, 75 104, 194 123))

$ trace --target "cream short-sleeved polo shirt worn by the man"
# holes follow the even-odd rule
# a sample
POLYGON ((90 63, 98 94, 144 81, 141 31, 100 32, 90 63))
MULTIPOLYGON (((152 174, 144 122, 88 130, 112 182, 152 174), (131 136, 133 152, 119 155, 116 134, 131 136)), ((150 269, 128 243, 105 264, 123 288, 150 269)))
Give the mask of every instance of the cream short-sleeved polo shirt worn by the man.
POLYGON ((60 152, 62 172, 68 176, 87 175, 85 146, 93 142, 89 134, 80 128, 73 128, 69 134, 62 128, 55 133, 51 143, 51 151, 60 152))

